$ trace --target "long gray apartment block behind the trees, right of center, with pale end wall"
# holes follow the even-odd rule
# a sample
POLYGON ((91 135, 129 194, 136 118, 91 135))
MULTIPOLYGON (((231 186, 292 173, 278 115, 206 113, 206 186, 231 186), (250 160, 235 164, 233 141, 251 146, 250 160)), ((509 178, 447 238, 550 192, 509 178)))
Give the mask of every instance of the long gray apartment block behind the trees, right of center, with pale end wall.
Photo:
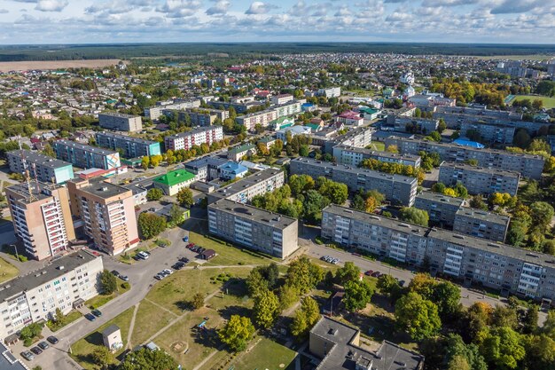
POLYGON ((359 189, 377 190, 386 196, 387 201, 407 207, 414 204, 417 193, 418 181, 415 177, 391 175, 311 158, 295 158, 289 163, 289 169, 292 175, 329 178, 347 185, 353 192, 359 189))

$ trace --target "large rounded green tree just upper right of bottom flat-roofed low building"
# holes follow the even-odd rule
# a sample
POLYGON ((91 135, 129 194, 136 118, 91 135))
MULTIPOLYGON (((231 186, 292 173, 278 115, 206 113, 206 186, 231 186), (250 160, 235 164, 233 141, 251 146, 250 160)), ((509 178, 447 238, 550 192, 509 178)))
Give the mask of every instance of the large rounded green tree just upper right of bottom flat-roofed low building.
POLYGON ((413 292, 395 303, 395 324, 416 341, 436 335, 442 327, 437 306, 413 292))

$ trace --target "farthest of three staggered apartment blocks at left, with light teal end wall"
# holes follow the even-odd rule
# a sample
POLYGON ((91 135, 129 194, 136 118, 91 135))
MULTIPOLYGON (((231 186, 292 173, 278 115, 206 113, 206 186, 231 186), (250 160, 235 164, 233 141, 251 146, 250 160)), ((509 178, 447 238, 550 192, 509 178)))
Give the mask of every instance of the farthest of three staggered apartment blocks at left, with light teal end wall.
POLYGON ((115 134, 113 132, 97 132, 95 139, 98 146, 112 150, 123 151, 125 158, 137 158, 143 156, 160 155, 160 143, 144 138, 133 138, 127 135, 115 134))

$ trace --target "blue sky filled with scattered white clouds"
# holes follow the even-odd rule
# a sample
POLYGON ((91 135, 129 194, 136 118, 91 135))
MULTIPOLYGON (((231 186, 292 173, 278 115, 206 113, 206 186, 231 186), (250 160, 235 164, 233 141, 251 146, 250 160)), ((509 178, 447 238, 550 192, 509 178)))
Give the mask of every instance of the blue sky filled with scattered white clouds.
POLYGON ((555 0, 0 0, 0 43, 555 43, 555 0))

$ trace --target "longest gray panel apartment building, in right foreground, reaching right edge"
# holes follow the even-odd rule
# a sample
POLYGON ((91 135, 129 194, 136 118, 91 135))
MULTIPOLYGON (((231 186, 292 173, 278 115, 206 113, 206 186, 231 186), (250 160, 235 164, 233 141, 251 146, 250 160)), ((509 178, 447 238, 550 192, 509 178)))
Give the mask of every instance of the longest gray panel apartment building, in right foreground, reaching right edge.
POLYGON ((354 209, 324 209, 322 236, 405 263, 430 265, 466 283, 555 300, 555 258, 457 232, 406 224, 354 209))

